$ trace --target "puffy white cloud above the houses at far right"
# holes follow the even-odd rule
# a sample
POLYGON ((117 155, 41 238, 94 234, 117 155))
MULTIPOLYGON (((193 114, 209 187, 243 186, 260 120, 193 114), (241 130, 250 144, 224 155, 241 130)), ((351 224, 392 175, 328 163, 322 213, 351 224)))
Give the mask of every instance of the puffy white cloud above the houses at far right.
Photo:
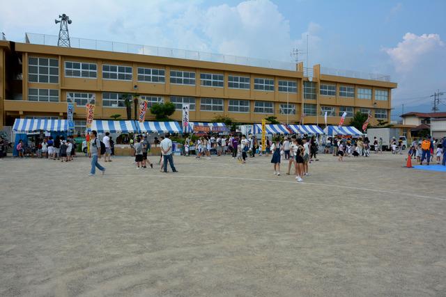
POLYGON ((414 33, 406 33, 403 41, 399 42, 397 47, 384 48, 392 59, 397 72, 410 72, 413 67, 433 51, 442 49, 445 43, 440 39, 438 34, 416 35, 414 33))

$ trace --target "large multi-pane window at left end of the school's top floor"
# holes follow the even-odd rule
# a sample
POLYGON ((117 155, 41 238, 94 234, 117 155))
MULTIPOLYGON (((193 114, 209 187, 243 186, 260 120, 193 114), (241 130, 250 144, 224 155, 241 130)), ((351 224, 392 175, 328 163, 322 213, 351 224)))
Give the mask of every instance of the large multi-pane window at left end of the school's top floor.
POLYGON ((29 57, 28 81, 31 83, 59 83, 59 60, 29 57))

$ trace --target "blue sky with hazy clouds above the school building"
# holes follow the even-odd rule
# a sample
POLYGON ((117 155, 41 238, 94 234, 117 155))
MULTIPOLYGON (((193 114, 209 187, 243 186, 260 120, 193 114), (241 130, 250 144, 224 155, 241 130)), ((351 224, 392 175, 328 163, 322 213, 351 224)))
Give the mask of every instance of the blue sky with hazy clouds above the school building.
POLYGON ((278 61, 306 51, 309 34, 309 65, 390 74, 398 115, 401 104, 428 111, 428 96, 446 91, 445 12, 446 1, 433 0, 16 0, 3 1, 0 30, 14 41, 56 35, 54 17, 66 13, 74 37, 278 61))

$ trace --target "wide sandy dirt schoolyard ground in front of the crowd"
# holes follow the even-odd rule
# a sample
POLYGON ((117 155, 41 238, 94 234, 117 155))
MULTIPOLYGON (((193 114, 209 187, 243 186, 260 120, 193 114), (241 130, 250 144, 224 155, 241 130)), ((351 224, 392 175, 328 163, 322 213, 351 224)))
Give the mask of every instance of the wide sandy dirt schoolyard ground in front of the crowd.
POLYGON ((446 296, 445 172, 321 155, 298 184, 266 156, 175 163, 0 161, 0 295, 446 296))

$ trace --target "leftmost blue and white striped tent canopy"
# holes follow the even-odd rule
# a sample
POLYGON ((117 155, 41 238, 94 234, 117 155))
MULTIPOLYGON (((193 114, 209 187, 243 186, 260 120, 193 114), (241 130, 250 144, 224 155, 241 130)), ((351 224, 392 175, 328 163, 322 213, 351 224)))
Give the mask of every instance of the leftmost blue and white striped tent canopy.
POLYGON ((13 131, 31 133, 34 131, 67 131, 68 120, 15 119, 13 131))

